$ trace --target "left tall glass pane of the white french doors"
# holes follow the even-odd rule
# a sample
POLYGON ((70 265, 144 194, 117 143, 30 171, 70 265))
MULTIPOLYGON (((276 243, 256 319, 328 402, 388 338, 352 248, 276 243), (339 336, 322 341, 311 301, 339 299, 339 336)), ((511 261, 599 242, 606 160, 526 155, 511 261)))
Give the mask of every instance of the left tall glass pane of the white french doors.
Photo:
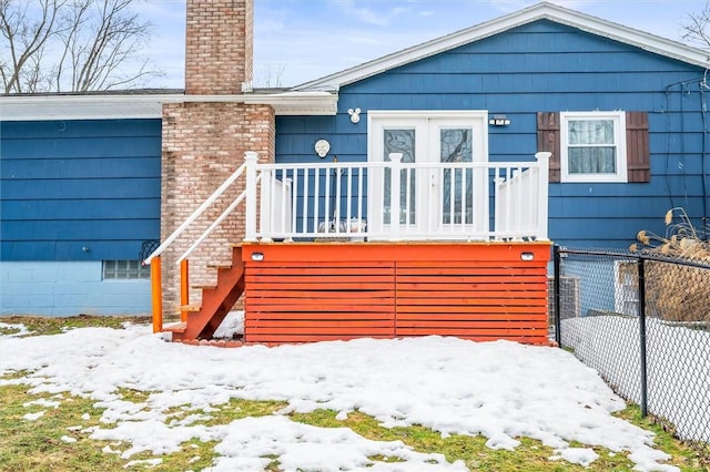
MULTIPOLYGON (((402 153, 402 163, 416 162, 415 145, 416 133, 415 130, 384 130, 385 142, 384 154, 385 162, 389 161, 389 153, 402 153)), ((414 170, 403 170, 400 172, 400 185, 399 185, 399 224, 416 224, 416 176, 414 170)), ((384 224, 389 225, 390 218, 390 202, 392 202, 392 171, 385 168, 385 188, 384 188, 384 224)))

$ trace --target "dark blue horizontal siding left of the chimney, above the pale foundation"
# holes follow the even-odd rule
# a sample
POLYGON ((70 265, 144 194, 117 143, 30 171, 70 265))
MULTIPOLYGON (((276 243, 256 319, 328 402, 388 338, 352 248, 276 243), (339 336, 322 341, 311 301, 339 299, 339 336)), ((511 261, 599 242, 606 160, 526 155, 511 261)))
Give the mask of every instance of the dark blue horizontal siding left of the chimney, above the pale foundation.
POLYGON ((160 237, 160 120, 0 126, 1 260, 138 259, 160 237))

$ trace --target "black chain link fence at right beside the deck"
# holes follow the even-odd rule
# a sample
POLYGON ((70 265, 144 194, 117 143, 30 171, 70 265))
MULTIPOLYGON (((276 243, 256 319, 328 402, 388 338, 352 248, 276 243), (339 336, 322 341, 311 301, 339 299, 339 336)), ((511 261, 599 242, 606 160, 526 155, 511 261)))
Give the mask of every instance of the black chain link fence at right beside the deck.
POLYGON ((554 336, 710 456, 710 265, 555 248, 554 336))

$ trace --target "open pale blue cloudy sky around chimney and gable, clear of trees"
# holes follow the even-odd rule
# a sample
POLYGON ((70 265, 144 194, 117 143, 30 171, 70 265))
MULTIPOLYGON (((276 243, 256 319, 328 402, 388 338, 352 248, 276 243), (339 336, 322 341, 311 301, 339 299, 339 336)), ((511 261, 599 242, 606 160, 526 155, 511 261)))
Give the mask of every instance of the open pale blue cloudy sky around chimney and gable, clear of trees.
MULTIPOLYGON (((493 20, 534 0, 254 0, 254 82, 297 85, 382 55, 493 20)), ((706 0, 556 0, 554 3, 682 41, 688 13, 706 0)), ((165 76, 151 86, 184 86, 185 0, 149 0, 151 57, 165 76)))

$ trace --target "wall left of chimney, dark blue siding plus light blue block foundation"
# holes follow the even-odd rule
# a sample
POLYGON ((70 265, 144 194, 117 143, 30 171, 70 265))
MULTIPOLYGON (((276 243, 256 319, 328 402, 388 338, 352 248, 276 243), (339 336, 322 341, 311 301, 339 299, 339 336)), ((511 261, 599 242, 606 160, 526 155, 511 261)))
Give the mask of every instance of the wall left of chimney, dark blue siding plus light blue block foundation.
POLYGON ((161 120, 0 122, 0 315, 150 311, 104 280, 160 238, 161 120))

